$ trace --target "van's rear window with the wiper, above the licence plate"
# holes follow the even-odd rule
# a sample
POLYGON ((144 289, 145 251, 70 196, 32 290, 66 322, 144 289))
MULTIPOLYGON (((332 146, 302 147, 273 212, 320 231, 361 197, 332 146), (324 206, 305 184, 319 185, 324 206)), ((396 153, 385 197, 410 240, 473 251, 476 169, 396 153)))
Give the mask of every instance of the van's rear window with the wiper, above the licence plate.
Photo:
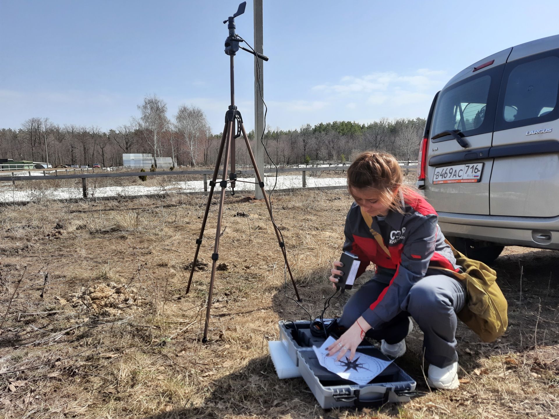
POLYGON ((485 120, 490 87, 491 76, 487 74, 466 79, 465 83, 441 92, 433 116, 432 136, 447 130, 459 130, 466 136, 481 134, 475 131, 479 131, 485 120))

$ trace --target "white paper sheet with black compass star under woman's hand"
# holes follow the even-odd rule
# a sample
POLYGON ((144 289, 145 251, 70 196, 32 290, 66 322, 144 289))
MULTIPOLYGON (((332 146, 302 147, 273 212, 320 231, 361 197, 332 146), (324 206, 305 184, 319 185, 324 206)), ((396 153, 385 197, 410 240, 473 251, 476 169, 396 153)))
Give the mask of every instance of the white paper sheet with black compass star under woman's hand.
MULTIPOLYGON (((321 347, 312 346, 320 365, 334 374, 338 374, 340 377, 357 384, 367 384, 392 363, 392 361, 378 359, 360 352, 356 352, 353 361, 350 361, 345 355, 342 359, 336 361, 338 353, 328 356, 328 351, 326 350, 326 347, 334 342, 335 339, 330 336, 321 347)), ((348 351, 347 354, 349 355, 350 352, 348 351)))

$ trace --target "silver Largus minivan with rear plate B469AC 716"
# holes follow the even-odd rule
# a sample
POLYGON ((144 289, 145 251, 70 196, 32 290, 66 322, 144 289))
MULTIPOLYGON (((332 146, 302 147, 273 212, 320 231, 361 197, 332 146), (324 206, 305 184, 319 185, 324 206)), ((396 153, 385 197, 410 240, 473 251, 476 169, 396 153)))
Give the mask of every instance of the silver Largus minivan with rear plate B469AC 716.
POLYGON ((505 245, 559 249, 559 35, 467 67, 438 92, 418 183, 454 246, 490 263, 505 245))

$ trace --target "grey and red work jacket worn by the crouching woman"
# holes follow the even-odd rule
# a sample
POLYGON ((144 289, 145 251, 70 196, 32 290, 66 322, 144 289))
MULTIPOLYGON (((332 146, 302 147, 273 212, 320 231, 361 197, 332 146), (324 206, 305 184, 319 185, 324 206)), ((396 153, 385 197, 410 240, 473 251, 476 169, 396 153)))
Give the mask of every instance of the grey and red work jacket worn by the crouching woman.
POLYGON ((418 193, 407 194, 402 201, 404 213, 390 211, 383 221, 365 215, 371 222, 370 230, 355 202, 345 219, 343 250, 357 255, 361 261, 357 277, 371 262, 376 265, 376 273, 392 275, 387 287, 362 314, 373 328, 405 310, 402 304, 412 285, 428 274, 444 274, 436 268, 460 272, 433 207, 418 193), (378 244, 373 233, 380 234, 384 246, 378 244))

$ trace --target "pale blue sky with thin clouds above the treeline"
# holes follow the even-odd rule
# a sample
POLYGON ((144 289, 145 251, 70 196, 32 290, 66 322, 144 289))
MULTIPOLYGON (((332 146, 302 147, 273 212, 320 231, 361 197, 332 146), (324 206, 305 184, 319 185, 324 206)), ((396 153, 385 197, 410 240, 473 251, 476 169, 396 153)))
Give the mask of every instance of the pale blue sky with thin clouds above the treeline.
MULTIPOLYGON (((30 117, 103 130, 139 116, 157 94, 222 131, 229 105, 228 35, 240 1, 0 0, 0 128, 30 117)), ((466 66, 556 35, 559 2, 264 0, 267 123, 425 117, 466 66)), ((236 18, 252 45, 252 1, 236 18)), ((236 104, 253 128, 252 55, 235 58, 236 104)))

